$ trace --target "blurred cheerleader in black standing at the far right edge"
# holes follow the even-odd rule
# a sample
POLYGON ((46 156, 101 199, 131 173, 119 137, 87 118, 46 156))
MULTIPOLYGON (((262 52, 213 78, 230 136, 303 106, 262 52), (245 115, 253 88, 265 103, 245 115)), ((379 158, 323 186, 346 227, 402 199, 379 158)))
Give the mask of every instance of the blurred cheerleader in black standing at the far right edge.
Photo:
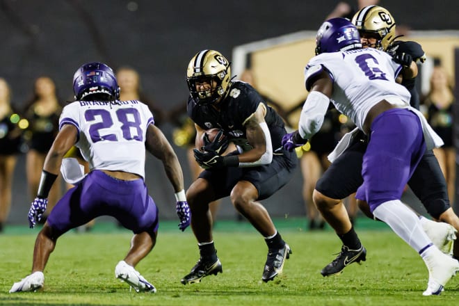
POLYGON ((453 106, 456 99, 449 75, 442 66, 435 66, 430 76, 430 90, 422 99, 424 113, 431 127, 443 139, 444 145, 433 152, 440 163, 440 168, 451 203, 455 198, 456 148, 453 144, 453 106))

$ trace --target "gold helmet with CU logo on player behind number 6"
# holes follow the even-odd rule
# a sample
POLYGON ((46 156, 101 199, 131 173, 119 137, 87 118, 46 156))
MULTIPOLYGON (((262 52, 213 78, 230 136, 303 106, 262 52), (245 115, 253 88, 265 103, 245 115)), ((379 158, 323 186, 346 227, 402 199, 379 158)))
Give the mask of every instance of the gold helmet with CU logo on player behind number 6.
POLYGON ((360 34, 371 33, 376 35, 376 49, 387 51, 394 42, 395 20, 389 10, 381 6, 365 6, 355 13, 352 23, 357 27, 360 34))

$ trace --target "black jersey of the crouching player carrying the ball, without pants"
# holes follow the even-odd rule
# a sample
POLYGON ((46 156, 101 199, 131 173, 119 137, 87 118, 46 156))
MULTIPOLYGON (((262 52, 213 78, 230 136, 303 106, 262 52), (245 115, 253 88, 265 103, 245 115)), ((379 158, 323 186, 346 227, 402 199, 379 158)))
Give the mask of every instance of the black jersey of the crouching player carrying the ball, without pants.
POLYGON ((268 106, 255 88, 241 81, 231 81, 230 92, 219 102, 220 111, 211 105, 199 105, 193 97, 188 97, 188 116, 202 129, 223 129, 235 145, 245 150, 250 149, 243 123, 257 111, 260 103, 266 106, 265 120, 271 133, 273 150, 282 147, 282 136, 286 133, 284 121, 277 112, 268 106))

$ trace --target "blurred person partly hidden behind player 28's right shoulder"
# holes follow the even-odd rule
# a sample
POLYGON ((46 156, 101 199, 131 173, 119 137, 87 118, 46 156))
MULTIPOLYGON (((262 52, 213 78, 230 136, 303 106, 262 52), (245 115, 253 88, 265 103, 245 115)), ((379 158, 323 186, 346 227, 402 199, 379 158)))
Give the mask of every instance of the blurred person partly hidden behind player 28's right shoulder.
POLYGON ((156 105, 154 100, 147 97, 143 90, 140 81, 140 75, 134 68, 123 66, 116 70, 116 79, 120 86, 120 101, 138 100, 147 104, 150 111, 154 115, 154 125, 161 126, 164 123, 164 113, 156 105))

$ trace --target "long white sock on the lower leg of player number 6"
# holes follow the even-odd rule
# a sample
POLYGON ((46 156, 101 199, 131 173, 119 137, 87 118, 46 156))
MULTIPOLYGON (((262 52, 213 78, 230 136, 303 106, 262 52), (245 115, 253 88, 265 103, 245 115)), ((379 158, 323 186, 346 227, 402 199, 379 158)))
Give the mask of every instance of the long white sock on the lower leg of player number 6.
POLYGON ((373 211, 373 215, 387 223, 419 255, 430 245, 433 245, 424 230, 422 230, 419 218, 400 200, 392 200, 380 204, 373 211))

